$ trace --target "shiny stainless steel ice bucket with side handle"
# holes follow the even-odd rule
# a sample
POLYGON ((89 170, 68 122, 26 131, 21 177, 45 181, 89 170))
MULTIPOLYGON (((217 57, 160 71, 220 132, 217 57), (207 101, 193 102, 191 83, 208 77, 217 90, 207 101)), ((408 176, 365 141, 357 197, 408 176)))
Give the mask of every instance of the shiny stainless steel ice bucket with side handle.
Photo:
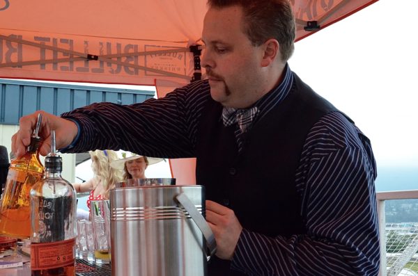
POLYGON ((110 205, 112 275, 207 275, 216 243, 203 186, 114 188, 110 205))

